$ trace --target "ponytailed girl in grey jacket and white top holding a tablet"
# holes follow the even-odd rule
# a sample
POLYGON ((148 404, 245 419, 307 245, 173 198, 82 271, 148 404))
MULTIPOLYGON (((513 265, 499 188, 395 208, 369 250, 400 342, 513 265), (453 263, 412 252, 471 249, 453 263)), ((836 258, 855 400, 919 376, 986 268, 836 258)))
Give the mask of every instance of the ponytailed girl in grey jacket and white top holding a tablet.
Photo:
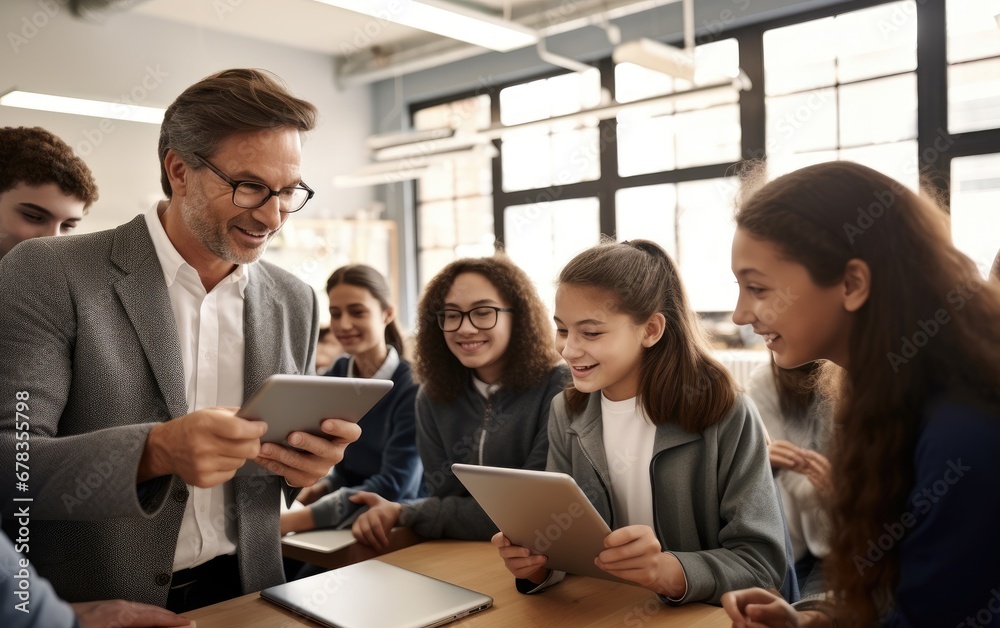
MULTIPOLYGON (((596 564, 664 602, 781 586, 784 524, 760 418, 708 352, 677 268, 653 242, 606 243, 559 275, 547 469, 573 476, 613 530, 596 564)), ((518 590, 562 579, 493 537, 518 590)))

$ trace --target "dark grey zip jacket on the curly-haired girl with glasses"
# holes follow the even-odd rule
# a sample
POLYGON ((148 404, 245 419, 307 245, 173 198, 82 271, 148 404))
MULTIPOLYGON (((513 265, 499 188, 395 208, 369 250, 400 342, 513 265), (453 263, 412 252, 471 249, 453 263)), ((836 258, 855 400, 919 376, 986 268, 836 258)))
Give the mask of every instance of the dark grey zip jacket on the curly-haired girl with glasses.
POLYGON ((554 367, 534 388, 501 387, 483 399, 469 376, 450 404, 417 393, 417 450, 424 464, 425 499, 403 504, 400 525, 428 538, 486 541, 497 527, 451 472, 455 462, 515 469, 545 468, 549 404, 569 380, 554 367), (487 404, 489 411, 487 412, 487 404))

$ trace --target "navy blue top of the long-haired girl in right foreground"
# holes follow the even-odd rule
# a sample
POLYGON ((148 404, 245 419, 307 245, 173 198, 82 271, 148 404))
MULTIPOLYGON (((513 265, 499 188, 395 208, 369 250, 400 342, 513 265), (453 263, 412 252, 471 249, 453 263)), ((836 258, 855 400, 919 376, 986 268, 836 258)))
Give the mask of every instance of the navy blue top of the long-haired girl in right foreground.
POLYGON ((907 507, 862 557, 901 542, 887 625, 1000 627, 998 449, 996 410, 943 397, 927 404, 907 507))

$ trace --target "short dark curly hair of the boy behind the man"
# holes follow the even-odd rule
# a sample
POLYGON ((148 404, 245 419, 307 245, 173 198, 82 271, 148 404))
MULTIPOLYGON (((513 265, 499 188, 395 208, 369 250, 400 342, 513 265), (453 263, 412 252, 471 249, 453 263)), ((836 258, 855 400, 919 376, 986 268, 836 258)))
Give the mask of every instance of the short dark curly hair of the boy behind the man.
POLYGON ((0 164, 0 194, 22 183, 55 183, 64 194, 84 202, 84 213, 97 200, 97 183, 87 164, 41 127, 0 128, 0 164))

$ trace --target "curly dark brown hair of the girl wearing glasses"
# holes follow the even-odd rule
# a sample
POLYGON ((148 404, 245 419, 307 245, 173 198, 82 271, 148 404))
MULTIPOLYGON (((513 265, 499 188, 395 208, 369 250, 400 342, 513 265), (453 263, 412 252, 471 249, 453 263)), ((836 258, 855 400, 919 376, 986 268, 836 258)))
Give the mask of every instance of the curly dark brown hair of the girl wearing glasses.
POLYGON ((559 361, 555 334, 531 278, 504 253, 465 258, 448 264, 431 279, 417 305, 417 342, 413 366, 427 396, 438 403, 454 401, 469 383, 469 369, 455 357, 437 324, 445 295, 462 273, 485 277, 511 312, 510 344, 500 381, 504 388, 537 386, 559 361))

